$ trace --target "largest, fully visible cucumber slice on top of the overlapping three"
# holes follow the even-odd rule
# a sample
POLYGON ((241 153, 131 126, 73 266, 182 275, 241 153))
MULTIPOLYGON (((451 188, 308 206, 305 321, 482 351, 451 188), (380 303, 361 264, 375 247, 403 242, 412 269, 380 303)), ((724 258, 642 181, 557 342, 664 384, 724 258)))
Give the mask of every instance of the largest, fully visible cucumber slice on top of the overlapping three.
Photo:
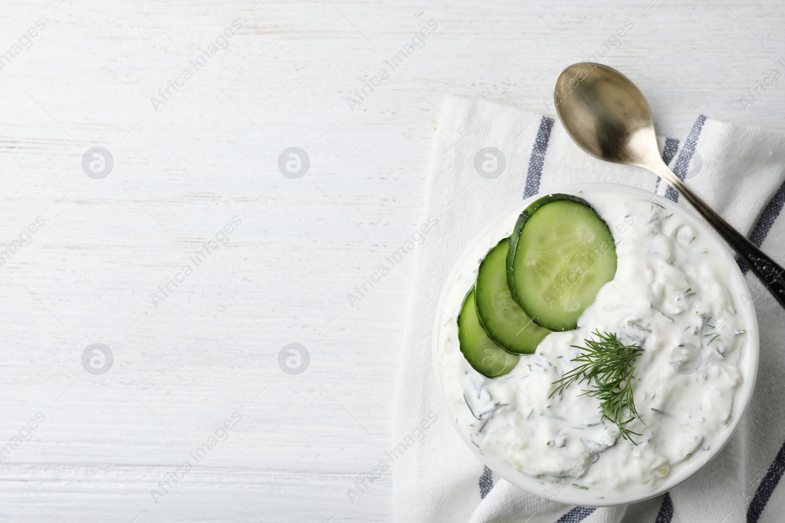
POLYGON ((538 325, 575 329, 615 274, 611 231, 585 200, 549 194, 520 213, 507 252, 507 285, 538 325))

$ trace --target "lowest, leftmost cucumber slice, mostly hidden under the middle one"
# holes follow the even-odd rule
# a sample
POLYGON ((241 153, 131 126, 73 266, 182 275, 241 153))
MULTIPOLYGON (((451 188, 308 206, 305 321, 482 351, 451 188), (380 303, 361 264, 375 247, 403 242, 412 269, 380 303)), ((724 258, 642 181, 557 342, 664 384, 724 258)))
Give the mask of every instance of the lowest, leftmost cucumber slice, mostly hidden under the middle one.
POLYGON ((466 295, 461 314, 458 314, 458 341, 461 343, 463 357, 483 376, 502 376, 518 364, 519 358, 516 355, 499 347, 480 327, 474 303, 474 288, 466 295))

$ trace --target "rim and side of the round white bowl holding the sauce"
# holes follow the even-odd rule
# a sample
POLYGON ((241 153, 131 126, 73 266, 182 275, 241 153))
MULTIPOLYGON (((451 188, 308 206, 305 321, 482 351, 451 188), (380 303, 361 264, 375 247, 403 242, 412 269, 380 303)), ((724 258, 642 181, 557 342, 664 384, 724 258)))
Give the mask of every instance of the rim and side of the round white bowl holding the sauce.
MULTIPOLYGON (((436 370, 436 375, 440 380, 442 391, 444 392, 444 398, 447 401, 448 411, 452 412, 449 401, 451 396, 455 394, 455 390, 448 391, 444 389, 444 380, 442 380, 442 376, 439 371, 440 365, 438 358, 440 354, 440 347, 442 346, 440 342, 444 340, 444 336, 447 332, 446 329, 448 329, 448 325, 450 325, 450 323, 444 323, 444 319, 442 318, 442 313, 440 311, 445 311, 447 314, 451 314, 452 318, 457 317, 461 303, 455 303, 456 291, 459 290, 460 296, 464 296, 470 287, 469 282, 466 281, 466 267, 471 266, 473 269, 476 269, 476 267, 479 266, 480 260, 485 256, 488 249, 490 249, 493 245, 496 245, 496 242, 505 237, 504 235, 501 235, 498 236, 498 238, 491 238, 491 231, 493 231, 495 227, 501 226, 502 223, 509 224, 509 227, 506 228, 509 229, 509 231, 512 231, 517 217, 520 215, 520 212, 526 209, 526 207, 528 207, 531 202, 534 202, 537 198, 541 198, 545 194, 553 194, 557 192, 566 194, 579 194, 579 191, 619 192, 642 196, 647 200, 652 198, 652 193, 649 191, 644 191, 636 187, 621 185, 619 183, 580 183, 577 185, 559 187, 557 189, 553 189, 553 191, 550 191, 549 193, 536 194, 531 198, 527 198, 519 205, 516 205, 513 209, 509 209, 509 211, 505 212, 493 223, 490 223, 488 227, 484 229, 484 231, 477 235, 469 247, 462 253, 458 259, 458 262, 455 263, 455 267, 453 267, 453 270, 447 277, 447 281, 439 299, 439 307, 436 309, 436 319, 433 323, 434 369, 436 370), (460 275, 463 275, 462 281, 457 281, 460 275), (460 285, 461 288, 458 289, 456 285, 460 285)), ((736 431, 736 427, 739 426, 739 423, 743 418, 743 413, 747 409, 747 405, 750 401, 752 390, 755 385, 755 377, 758 372, 759 350, 758 319, 755 315, 755 308, 750 296, 747 282, 744 280, 741 271, 739 271, 738 266, 736 265, 736 261, 733 259, 731 253, 728 252, 725 244, 721 242, 720 238, 718 238, 717 234, 714 232, 714 229, 711 229, 707 223, 699 220, 695 215, 693 215, 684 207, 681 207, 680 205, 677 205, 676 203, 671 202, 670 200, 661 196, 654 196, 652 202, 662 205, 670 212, 674 212, 674 214, 681 217, 682 220, 684 220, 690 226, 694 227, 696 230, 702 231, 706 241, 710 245, 714 245, 714 252, 720 253, 721 256, 725 256, 725 262, 730 268, 730 274, 728 274, 728 281, 726 283, 734 298, 736 311, 738 314, 741 314, 745 324, 747 325, 747 339, 749 340, 749 347, 745 347, 743 356, 739 361, 739 372, 742 376, 742 383, 739 386, 739 389, 736 390, 736 396, 733 401, 733 416, 730 423, 728 423, 728 430, 725 431, 725 434, 723 434, 724 438, 718 438, 715 440, 719 443, 718 445, 712 445, 710 450, 696 454, 696 456, 693 456, 692 459, 690 459, 688 462, 679 463, 676 467, 674 467, 674 470, 671 470, 670 475, 665 478, 664 481, 659 484, 659 486, 652 488, 650 492, 637 492, 631 494, 630 496, 623 492, 600 492, 600 496, 597 496, 597 494, 594 492, 589 493, 579 489, 563 489, 558 493, 557 496, 554 497, 550 493, 552 491, 549 491, 550 481, 544 481, 526 474, 500 456, 491 454, 486 455, 481 453, 480 449, 476 447, 476 445, 473 445, 469 441, 469 438, 467 438, 466 434, 464 434, 460 427, 458 427, 457 419, 455 419, 456 416, 451 416, 455 425, 455 429, 458 430, 458 434, 482 463, 487 465, 488 468, 493 470, 506 481, 509 481, 509 483, 512 485, 515 485, 526 492, 534 494, 535 496, 544 497, 546 499, 554 499, 559 503, 565 503, 568 505, 588 505, 591 507, 610 507, 614 505, 636 503, 644 499, 659 496, 660 494, 670 491, 670 489, 691 478, 692 475, 696 474, 699 470, 705 467, 707 463, 711 461, 711 459, 714 459, 714 457, 717 456, 719 452, 721 452, 723 447, 725 447, 725 444, 728 443, 728 440, 731 438, 732 434, 736 431), (741 305, 739 306, 739 304, 741 305)), ((471 273, 471 271, 469 271, 469 273, 471 273)), ((451 328, 455 329, 455 326, 453 325, 451 328)))

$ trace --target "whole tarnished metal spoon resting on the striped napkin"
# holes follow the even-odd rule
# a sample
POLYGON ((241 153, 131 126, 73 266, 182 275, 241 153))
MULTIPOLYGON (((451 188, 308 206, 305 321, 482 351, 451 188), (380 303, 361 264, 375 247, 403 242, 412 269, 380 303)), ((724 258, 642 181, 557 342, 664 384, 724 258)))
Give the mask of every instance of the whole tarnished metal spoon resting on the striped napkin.
POLYGON ((601 64, 574 64, 559 75, 553 98, 561 123, 575 143, 601 160, 638 165, 670 183, 725 238, 785 307, 785 270, 668 169, 659 155, 652 111, 629 78, 601 64))

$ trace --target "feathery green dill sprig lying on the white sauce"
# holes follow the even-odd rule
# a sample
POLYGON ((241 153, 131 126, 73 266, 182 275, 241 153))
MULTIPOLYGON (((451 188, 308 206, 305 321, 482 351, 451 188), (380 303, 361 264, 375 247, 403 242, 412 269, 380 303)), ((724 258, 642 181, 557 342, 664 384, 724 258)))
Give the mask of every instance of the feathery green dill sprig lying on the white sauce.
POLYGON ((581 361, 583 365, 575 367, 560 380, 554 381, 553 385, 558 383, 559 386, 550 396, 561 394, 565 388, 575 382, 586 381, 593 384, 593 389, 583 390, 583 394, 599 398, 602 417, 619 427, 622 438, 637 445, 630 434, 637 436, 641 434, 628 430, 627 424, 633 419, 640 419, 633 400, 632 380, 633 372, 637 368, 637 365, 633 365, 633 361, 641 355, 643 349, 635 343, 625 345, 615 334, 608 332, 600 334, 598 331, 593 334, 599 338, 599 341, 584 340, 586 347, 571 346, 582 350, 582 354, 571 361, 581 361), (624 419, 625 410, 630 413, 628 419, 624 419))

